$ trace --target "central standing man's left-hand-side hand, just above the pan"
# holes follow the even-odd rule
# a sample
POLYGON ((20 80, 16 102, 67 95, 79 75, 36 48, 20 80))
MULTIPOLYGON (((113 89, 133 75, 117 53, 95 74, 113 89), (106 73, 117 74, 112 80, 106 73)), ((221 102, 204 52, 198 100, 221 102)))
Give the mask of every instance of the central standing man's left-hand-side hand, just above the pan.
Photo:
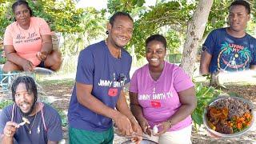
POLYGON ((113 120, 122 135, 130 136, 134 133, 130 120, 125 115, 118 113, 113 120))

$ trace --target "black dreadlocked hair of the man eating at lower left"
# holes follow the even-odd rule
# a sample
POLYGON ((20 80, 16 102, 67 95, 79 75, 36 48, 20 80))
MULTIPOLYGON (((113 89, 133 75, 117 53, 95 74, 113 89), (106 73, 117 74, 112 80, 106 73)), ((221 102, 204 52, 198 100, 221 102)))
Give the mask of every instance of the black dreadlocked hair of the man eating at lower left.
POLYGON ((34 79, 29 76, 18 77, 14 80, 11 86, 11 93, 12 93, 11 95, 12 95, 13 101, 15 102, 15 94, 16 94, 17 86, 20 83, 24 83, 26 85, 26 91, 32 92, 34 94, 34 102, 37 102, 38 89, 34 82, 34 79))

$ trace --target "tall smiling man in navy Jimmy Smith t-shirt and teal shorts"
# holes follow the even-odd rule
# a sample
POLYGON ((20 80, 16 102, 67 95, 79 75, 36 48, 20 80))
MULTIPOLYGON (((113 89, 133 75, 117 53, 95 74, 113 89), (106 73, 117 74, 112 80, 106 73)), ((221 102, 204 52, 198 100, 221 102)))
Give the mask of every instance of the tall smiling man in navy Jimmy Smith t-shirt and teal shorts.
POLYGON ((136 138, 134 132, 142 134, 123 91, 130 82, 131 66, 131 56, 123 46, 132 33, 133 19, 117 12, 107 24, 106 41, 80 52, 68 111, 70 144, 113 143, 112 120, 122 135, 136 138))

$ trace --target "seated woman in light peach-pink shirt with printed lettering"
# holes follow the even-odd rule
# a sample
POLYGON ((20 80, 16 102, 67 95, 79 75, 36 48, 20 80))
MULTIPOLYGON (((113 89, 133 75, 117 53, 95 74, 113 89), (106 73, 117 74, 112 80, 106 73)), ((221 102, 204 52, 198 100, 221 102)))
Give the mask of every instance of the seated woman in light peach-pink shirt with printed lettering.
POLYGON ((53 50, 46 21, 32 17, 26 1, 14 2, 12 9, 16 21, 6 28, 4 48, 7 62, 3 70, 33 71, 35 66, 58 70, 62 58, 57 50, 53 50))

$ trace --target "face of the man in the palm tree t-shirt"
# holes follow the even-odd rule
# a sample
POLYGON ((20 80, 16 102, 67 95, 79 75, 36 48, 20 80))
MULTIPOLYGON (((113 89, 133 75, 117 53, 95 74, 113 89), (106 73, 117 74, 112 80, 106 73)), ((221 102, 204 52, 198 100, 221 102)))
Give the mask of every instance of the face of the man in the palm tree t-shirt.
POLYGON ((246 23, 250 20, 250 14, 247 14, 245 6, 231 6, 228 19, 230 30, 242 32, 246 29, 246 23))

